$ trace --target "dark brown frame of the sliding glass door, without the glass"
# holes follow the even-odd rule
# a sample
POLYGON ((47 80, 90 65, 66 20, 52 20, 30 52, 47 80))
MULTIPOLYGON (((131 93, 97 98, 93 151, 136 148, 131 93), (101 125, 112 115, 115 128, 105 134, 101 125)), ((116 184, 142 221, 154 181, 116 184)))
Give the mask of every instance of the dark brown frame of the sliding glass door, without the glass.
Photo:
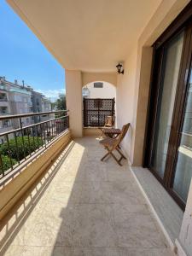
POLYGON ((153 45, 153 64, 151 73, 151 83, 148 98, 148 119, 145 133, 145 148, 143 167, 154 174, 166 190, 172 195, 177 204, 184 209, 185 203, 173 191, 172 183, 177 164, 177 148, 180 143, 180 129, 183 124, 183 112, 186 102, 186 93, 189 80, 189 71, 192 55, 192 3, 190 2, 177 19, 166 29, 153 45), (172 126, 166 157, 166 168, 163 179, 158 176, 150 166, 152 157, 152 147, 154 143, 154 125, 158 109, 158 96, 160 95, 160 77, 162 73, 162 61, 166 44, 176 37, 178 33, 184 32, 183 52, 177 80, 176 98, 172 115, 172 126))

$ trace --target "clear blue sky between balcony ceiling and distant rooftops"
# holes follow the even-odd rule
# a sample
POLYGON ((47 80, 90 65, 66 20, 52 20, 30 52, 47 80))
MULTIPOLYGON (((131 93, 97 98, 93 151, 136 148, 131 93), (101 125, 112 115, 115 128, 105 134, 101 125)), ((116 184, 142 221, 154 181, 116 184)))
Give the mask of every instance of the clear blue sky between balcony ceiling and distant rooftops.
POLYGON ((65 72, 26 24, 0 0, 0 76, 55 97, 65 88, 65 72))

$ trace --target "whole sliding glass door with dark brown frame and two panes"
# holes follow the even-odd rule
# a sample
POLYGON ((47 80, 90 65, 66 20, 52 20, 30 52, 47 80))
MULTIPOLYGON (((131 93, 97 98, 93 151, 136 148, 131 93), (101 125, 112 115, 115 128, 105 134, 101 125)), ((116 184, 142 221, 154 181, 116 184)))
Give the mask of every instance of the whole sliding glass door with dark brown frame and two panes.
MULTIPOLYGON (((192 14, 192 3, 189 8, 192 14)), ((192 177, 192 15, 189 8, 154 43, 144 160, 144 166, 183 209, 192 177)))

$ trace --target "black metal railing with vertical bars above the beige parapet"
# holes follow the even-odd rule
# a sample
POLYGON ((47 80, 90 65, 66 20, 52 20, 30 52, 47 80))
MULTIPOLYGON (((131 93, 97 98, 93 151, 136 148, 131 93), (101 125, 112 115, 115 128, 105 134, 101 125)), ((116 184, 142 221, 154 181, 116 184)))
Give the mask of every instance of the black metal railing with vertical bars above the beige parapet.
MULTIPOLYGON (((32 154, 59 137, 69 127, 67 110, 0 116, 11 121, 14 130, 0 133, 0 179, 25 162, 32 154), (47 120, 40 121, 47 114, 47 120), (38 122, 25 125, 25 119, 38 117, 38 122)), ((0 130, 1 131, 1 130, 0 130)))

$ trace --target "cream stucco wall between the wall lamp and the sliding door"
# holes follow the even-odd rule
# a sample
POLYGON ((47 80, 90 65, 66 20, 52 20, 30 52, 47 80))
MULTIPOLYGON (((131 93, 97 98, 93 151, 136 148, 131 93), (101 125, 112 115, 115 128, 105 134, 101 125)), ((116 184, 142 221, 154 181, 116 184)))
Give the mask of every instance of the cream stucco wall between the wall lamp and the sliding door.
POLYGON ((148 108, 148 89, 154 41, 172 23, 187 0, 163 0, 125 59, 125 74, 117 82, 117 124, 131 123, 123 147, 134 166, 143 165, 143 144, 148 108))

